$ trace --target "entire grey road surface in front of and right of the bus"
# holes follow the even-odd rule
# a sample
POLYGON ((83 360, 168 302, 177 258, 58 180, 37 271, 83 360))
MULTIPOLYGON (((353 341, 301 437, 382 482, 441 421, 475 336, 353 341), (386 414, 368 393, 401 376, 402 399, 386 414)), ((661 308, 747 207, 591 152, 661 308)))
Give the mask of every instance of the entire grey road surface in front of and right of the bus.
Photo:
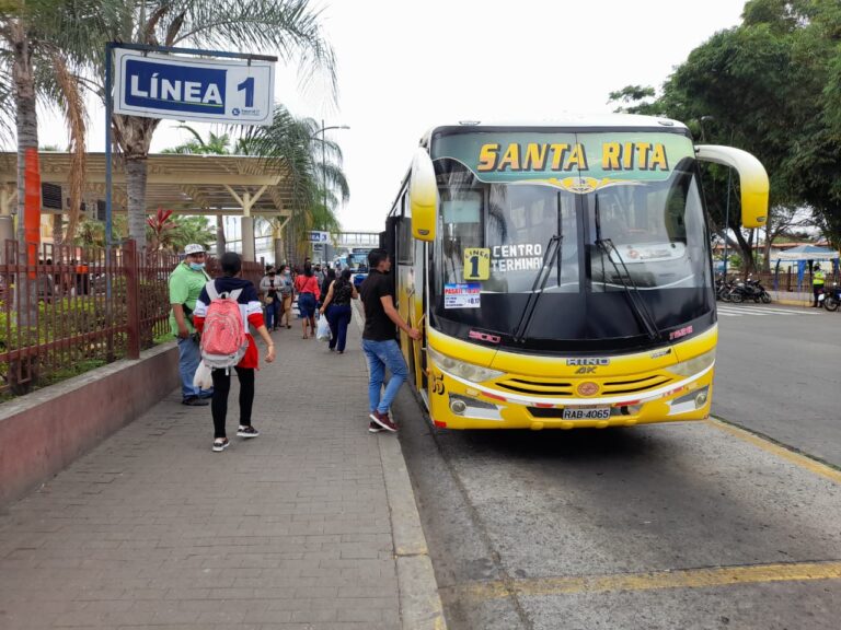
MULTIPOLYGON (((719 326, 714 411, 837 462, 841 315, 719 326)), ((394 412, 453 630, 839 628, 838 470, 716 422, 441 431, 407 388, 394 412)))

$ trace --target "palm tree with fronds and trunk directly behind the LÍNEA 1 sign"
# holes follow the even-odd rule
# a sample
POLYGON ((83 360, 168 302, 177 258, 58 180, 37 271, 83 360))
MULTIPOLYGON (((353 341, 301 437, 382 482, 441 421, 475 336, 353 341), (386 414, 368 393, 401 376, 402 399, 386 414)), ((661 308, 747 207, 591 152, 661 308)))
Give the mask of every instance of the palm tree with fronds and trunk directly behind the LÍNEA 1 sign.
MULTIPOLYGON (((151 46, 276 50, 298 61, 306 78, 325 70, 335 94, 335 60, 310 0, 101 0, 103 40, 151 46), (246 44, 247 43, 247 44, 246 44)), ((103 77, 102 49, 89 54, 94 75, 103 77)), ((104 89, 100 89, 104 98, 104 89)), ((126 163, 129 237, 146 242, 147 158, 160 120, 114 116, 114 138, 126 163)))

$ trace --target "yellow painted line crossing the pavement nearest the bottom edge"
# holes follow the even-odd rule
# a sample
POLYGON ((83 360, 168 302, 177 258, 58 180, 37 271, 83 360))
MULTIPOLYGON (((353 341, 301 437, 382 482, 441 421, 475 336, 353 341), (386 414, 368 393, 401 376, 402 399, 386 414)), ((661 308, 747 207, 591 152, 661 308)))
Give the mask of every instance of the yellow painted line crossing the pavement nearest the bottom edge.
POLYGON ((648 573, 619 573, 580 578, 538 578, 510 582, 473 582, 441 591, 451 591, 473 602, 500 599, 517 595, 535 597, 606 593, 618 591, 654 591, 663 588, 711 588, 763 582, 804 582, 841 579, 841 562, 798 562, 757 564, 717 569, 683 569, 648 573))

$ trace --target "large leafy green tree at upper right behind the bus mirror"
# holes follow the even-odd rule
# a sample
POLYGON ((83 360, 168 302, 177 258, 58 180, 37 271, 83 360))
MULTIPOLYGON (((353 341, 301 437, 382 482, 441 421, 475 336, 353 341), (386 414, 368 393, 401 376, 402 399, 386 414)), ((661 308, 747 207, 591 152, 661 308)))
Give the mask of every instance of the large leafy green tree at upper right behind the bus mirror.
MULTIPOLYGON (((833 243, 841 241, 841 3, 838 0, 751 0, 742 23, 695 48, 663 85, 654 103, 646 89, 611 97, 624 110, 684 120, 710 143, 757 155, 771 180, 771 221, 784 224, 792 208, 808 206, 833 243), (702 122, 701 120, 705 120, 702 122), (775 214, 781 217, 775 217, 775 214)), ((714 229, 723 231, 726 170, 704 170, 714 229)), ((750 237, 739 229, 738 182, 729 228, 744 260, 750 237)), ((769 236, 773 237, 773 230, 769 236)))

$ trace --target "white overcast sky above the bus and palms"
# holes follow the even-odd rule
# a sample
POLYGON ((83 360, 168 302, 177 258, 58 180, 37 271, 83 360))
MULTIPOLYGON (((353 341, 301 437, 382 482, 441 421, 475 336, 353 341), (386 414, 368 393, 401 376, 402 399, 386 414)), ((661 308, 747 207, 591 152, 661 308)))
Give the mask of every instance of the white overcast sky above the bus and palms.
MULTIPOLYGON (((298 116, 348 125, 345 230, 379 232, 420 136, 459 120, 551 120, 608 113, 608 94, 658 86, 716 31, 738 24, 744 0, 332 0, 322 23, 338 59, 338 103, 318 79, 278 67, 276 100, 298 116)), ((243 51, 252 50, 245 43, 243 51)), ((104 150, 104 112, 91 108, 91 151, 104 150)), ((41 143, 67 144, 42 115, 41 143)), ((191 124, 203 133, 208 125, 191 124)), ((152 151, 187 137, 164 121, 152 151)))

